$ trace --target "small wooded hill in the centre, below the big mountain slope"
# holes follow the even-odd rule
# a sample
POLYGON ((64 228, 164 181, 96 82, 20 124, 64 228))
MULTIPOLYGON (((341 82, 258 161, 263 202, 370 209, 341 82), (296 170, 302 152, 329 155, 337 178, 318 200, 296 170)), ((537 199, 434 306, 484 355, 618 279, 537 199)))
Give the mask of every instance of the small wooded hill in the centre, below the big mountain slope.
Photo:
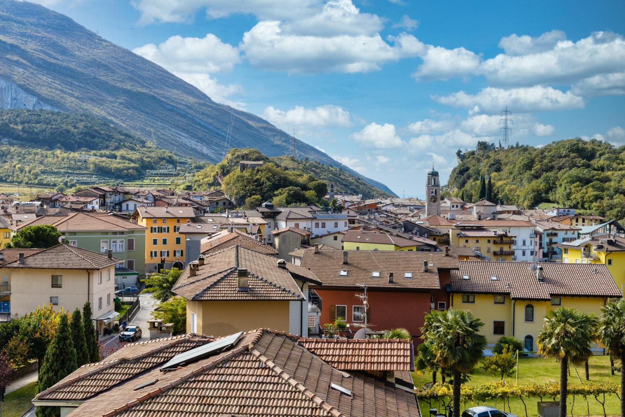
MULTIPOLYGON (((329 182, 334 182, 337 191, 362 194, 364 198, 387 196, 388 193, 372 187, 361 178, 354 177, 340 168, 329 167, 307 159, 297 160, 291 157, 268 158, 254 148, 231 149, 224 159, 216 165, 208 165, 186 182, 179 182, 175 187, 184 190, 206 190, 221 187, 230 197, 243 203, 252 196, 273 200, 276 205, 293 203, 313 203, 303 197, 314 190, 317 197, 326 193, 329 182), (239 162, 249 158, 252 161, 265 162, 262 167, 239 172, 239 162), (323 183, 323 187, 319 182, 323 183), (287 194, 285 196, 285 194, 287 194)), ((312 194, 311 194, 312 195, 312 194)), ((309 197, 311 197, 309 195, 309 197)), ((253 200, 256 202, 256 199, 253 200)), ((249 205, 251 204, 250 202, 249 205)))

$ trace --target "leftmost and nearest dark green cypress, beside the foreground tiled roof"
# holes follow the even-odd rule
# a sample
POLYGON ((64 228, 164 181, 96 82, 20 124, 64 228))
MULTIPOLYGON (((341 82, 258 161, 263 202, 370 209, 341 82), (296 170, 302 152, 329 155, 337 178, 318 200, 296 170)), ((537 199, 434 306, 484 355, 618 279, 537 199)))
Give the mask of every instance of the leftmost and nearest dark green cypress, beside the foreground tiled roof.
MULTIPOLYGON (((39 370, 39 386, 37 391, 45 391, 61 381, 69 374, 76 371, 76 349, 72 341, 72 333, 68 325, 68 315, 62 314, 59 319, 59 327, 46 350, 43 366, 39 370)), ((37 417, 56 417, 61 410, 58 407, 39 406, 37 417)))

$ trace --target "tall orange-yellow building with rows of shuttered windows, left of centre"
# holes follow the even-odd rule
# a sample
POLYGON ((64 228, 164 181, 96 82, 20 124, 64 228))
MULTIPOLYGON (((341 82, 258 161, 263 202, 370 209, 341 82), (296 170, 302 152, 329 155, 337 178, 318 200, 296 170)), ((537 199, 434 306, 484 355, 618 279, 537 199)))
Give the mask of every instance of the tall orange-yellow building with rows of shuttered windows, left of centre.
POLYGON ((146 227, 146 274, 160 268, 183 269, 184 235, 182 224, 195 217, 192 207, 138 207, 131 217, 146 227))

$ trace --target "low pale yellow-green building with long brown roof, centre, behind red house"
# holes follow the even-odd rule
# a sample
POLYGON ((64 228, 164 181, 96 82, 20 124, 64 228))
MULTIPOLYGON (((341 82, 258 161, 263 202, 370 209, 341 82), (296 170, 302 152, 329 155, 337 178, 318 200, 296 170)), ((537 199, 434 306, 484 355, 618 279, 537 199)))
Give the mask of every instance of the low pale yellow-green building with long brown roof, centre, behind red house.
POLYGON ((415 236, 413 239, 406 239, 401 236, 366 230, 347 230, 341 238, 341 242, 344 250, 436 251, 436 242, 434 240, 418 236, 415 236))

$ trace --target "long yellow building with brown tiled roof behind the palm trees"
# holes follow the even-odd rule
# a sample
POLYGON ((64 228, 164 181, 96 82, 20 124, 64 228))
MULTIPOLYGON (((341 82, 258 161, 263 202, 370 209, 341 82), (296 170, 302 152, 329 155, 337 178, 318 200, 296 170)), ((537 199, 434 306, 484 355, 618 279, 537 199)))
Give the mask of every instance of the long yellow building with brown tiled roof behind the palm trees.
POLYGON ((450 305, 484 322, 489 346, 502 336, 514 336, 527 351, 537 350, 547 311, 574 307, 599 316, 607 299, 621 297, 604 265, 460 262, 460 269, 451 271, 450 286, 450 305))

